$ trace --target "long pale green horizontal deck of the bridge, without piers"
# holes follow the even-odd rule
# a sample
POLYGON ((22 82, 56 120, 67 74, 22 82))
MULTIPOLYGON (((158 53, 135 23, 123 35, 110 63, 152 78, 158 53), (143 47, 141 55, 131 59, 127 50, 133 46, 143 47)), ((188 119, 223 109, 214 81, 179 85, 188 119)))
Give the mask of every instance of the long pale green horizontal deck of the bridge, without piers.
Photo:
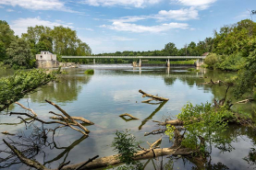
POLYGON ((205 59, 206 56, 62 56, 63 59, 205 59))

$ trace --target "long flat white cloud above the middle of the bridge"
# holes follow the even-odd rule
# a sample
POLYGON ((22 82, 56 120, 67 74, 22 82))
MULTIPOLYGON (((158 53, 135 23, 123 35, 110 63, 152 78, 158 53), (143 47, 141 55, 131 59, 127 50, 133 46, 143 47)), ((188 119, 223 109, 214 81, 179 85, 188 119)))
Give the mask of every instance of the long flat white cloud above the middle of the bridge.
POLYGON ((152 32, 152 33, 159 33, 163 32, 172 28, 189 28, 189 25, 186 23, 169 23, 169 24, 162 24, 158 26, 141 26, 137 24, 130 24, 124 22, 113 22, 112 25, 105 26, 105 28, 110 28, 118 31, 128 31, 128 32, 152 32))

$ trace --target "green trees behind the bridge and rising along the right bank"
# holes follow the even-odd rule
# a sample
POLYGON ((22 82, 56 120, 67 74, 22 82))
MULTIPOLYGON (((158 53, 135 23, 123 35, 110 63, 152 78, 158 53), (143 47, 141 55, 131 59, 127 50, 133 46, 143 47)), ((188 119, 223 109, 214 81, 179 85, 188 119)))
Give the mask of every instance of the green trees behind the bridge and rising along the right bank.
MULTIPOLYGON (((246 62, 250 51, 255 49, 256 23, 250 19, 241 20, 230 26, 224 26, 219 31, 213 31, 213 38, 205 38, 198 43, 191 41, 183 48, 177 49, 176 44, 169 42, 161 51, 116 51, 100 53, 105 56, 201 56, 205 52, 212 54, 205 61, 209 68, 226 71, 238 71, 246 62)), ((154 60, 156 61, 156 60, 154 60)), ((161 60, 160 60, 161 61, 161 60)), ((121 59, 99 62, 132 62, 121 59)), ((163 60, 164 62, 164 60, 163 60)), ((207 66, 205 65, 205 66, 207 66)))

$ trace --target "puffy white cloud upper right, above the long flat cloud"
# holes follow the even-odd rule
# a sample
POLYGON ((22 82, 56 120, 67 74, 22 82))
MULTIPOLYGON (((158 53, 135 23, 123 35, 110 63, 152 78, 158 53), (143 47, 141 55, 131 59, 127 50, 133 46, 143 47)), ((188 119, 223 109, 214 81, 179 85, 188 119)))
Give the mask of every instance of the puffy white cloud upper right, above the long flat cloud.
POLYGON ((176 20, 189 20, 189 19, 197 19, 198 18, 198 11, 194 7, 190 8, 182 8, 179 10, 161 10, 159 11, 158 15, 154 17, 158 18, 159 20, 166 20, 166 19, 176 19, 176 20))

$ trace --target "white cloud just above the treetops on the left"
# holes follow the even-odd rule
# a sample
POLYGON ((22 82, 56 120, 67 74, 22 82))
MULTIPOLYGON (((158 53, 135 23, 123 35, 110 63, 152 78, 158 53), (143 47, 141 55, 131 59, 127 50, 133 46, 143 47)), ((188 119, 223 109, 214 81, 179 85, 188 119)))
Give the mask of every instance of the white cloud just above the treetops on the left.
POLYGON ((48 20, 43 20, 40 17, 28 17, 28 18, 18 18, 12 21, 10 27, 14 30, 15 34, 20 36, 22 33, 27 32, 28 27, 46 26, 49 28, 54 28, 55 26, 63 26, 68 28, 73 28, 72 23, 65 23, 61 20, 51 22, 48 20))

